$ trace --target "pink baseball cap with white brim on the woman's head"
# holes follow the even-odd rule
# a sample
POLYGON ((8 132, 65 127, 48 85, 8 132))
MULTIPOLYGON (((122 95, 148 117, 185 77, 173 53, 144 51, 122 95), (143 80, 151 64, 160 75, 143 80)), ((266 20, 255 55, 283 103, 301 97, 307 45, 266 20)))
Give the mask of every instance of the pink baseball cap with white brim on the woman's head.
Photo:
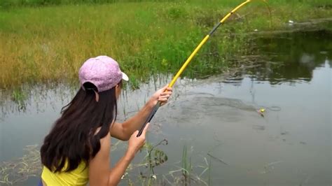
POLYGON ((128 76, 120 70, 118 62, 106 55, 90 58, 84 62, 78 71, 78 77, 82 87, 84 83, 90 82, 97 87, 98 92, 110 90, 121 79, 129 80, 128 76))

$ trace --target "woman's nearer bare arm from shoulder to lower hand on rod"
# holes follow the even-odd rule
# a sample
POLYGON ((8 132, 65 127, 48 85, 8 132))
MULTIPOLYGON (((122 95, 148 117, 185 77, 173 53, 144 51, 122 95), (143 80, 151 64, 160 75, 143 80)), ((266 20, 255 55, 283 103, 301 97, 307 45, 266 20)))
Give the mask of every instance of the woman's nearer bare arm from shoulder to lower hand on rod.
POLYGON ((109 167, 111 162, 111 136, 106 135, 104 138, 100 139, 100 150, 89 162, 89 184, 91 186, 118 185, 127 166, 132 159, 134 159, 134 155, 144 145, 147 129, 148 125, 146 125, 142 135, 138 138, 136 137, 138 131, 135 131, 134 134, 132 134, 127 152, 125 152, 125 155, 118 161, 118 163, 116 163, 113 169, 110 169, 109 167))

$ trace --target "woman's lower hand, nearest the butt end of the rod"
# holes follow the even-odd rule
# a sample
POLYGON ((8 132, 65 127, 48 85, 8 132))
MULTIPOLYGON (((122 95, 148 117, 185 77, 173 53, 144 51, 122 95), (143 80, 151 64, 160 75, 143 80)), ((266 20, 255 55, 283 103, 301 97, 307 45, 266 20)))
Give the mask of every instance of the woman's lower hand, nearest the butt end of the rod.
POLYGON ((150 123, 146 124, 145 128, 143 129, 143 132, 141 133, 141 136, 137 137, 139 131, 135 131, 134 134, 132 134, 132 136, 130 136, 129 138, 128 152, 130 152, 130 154, 132 154, 133 156, 145 144, 145 136, 146 136, 146 131, 148 130, 148 125, 150 125, 150 123))

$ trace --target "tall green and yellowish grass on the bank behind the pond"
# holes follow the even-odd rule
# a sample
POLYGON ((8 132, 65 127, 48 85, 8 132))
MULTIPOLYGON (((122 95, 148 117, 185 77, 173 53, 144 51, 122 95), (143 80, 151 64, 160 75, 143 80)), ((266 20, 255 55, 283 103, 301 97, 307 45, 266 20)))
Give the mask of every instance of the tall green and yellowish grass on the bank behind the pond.
MULTIPOLYGON (((74 82, 85 59, 97 55, 118 60, 134 83, 153 73, 174 73, 209 29, 240 2, 17 4, 1 8, 0 88, 74 82)), ((285 29, 289 20, 332 17, 327 0, 275 0, 270 6, 272 24, 259 1, 239 10, 202 48, 186 76, 219 73, 230 57, 248 52, 243 34, 247 31, 285 29)))

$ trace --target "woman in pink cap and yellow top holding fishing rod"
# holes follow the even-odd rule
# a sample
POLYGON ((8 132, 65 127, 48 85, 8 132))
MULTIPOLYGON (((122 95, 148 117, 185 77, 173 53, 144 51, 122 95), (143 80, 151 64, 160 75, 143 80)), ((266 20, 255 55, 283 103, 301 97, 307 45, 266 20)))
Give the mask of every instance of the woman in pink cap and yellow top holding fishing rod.
POLYGON ((61 117, 41 146, 43 172, 40 185, 117 185, 136 152, 144 145, 137 129, 158 101, 167 103, 172 88, 153 94, 137 115, 116 122, 117 99, 127 75, 107 56, 88 59, 79 70, 81 88, 62 108, 61 117), (111 137, 128 141, 125 155, 111 169, 111 137))

